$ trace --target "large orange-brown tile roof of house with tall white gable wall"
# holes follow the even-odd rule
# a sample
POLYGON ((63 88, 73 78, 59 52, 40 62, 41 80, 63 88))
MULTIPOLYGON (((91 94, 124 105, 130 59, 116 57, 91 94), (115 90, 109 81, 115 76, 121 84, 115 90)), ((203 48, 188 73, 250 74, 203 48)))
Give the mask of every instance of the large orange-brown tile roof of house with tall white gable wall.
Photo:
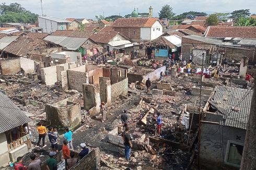
MULTIPOLYGON (((158 18, 119 18, 114 21, 112 27, 152 27, 158 18)), ((160 21, 159 21, 160 22, 160 21)), ((161 23, 161 22, 160 22, 161 23)))

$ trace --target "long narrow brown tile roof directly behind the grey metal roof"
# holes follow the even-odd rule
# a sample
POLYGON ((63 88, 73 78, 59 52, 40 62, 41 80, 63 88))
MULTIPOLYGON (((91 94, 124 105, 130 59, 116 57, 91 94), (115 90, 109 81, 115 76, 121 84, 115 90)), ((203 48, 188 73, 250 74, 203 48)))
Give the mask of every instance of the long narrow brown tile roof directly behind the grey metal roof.
POLYGON ((89 38, 94 32, 91 31, 73 31, 73 30, 56 30, 52 33, 55 36, 89 38))

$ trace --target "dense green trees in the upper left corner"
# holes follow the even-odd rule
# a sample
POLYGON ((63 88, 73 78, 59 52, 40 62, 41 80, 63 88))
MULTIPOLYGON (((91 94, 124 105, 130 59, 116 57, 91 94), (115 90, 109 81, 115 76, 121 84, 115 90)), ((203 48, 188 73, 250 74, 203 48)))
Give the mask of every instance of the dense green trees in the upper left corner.
POLYGON ((37 17, 37 14, 31 13, 18 3, 0 5, 0 22, 35 23, 37 17))

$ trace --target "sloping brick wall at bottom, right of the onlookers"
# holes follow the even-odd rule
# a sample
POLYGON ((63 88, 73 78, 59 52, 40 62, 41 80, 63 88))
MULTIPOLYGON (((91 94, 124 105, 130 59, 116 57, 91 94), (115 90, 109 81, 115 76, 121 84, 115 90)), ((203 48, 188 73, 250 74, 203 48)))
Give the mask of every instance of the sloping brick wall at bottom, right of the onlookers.
POLYGON ((96 148, 90 151, 82 160, 79 160, 70 170, 75 169, 92 169, 96 170, 100 168, 100 150, 96 148))

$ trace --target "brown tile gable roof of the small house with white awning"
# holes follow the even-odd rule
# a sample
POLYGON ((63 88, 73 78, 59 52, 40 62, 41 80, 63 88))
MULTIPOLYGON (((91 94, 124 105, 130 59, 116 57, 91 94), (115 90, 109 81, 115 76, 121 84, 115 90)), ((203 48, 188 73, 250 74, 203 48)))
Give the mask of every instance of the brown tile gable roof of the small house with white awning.
MULTIPOLYGON (((124 35, 122 35, 119 32, 98 32, 98 33, 94 33, 91 35, 90 39, 94 40, 97 43, 104 43, 107 44, 109 43, 115 36, 117 36, 118 34, 120 34, 122 37, 124 37, 124 35)), ((124 37, 125 38, 125 37, 124 37)), ((126 38, 127 39, 127 38, 126 38)), ((129 39, 127 39, 129 40, 129 39)))

